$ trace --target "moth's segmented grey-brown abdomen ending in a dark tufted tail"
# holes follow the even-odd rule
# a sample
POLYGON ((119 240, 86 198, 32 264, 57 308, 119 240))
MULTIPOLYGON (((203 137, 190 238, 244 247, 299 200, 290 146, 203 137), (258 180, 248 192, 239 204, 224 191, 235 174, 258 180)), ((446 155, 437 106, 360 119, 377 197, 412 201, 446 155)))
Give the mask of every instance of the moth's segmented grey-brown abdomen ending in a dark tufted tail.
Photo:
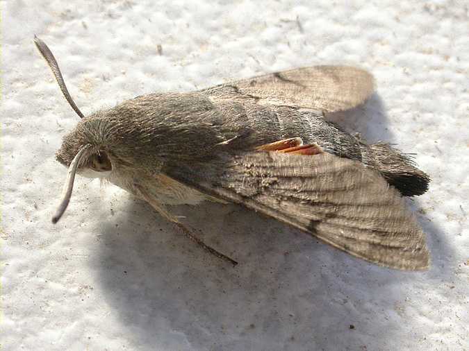
POLYGON ((429 177, 409 157, 388 144, 365 144, 324 119, 320 111, 233 101, 218 102, 217 108, 224 117, 224 127, 240 135, 230 144, 234 149, 252 150, 280 140, 300 138, 304 144, 320 146, 325 153, 376 169, 404 196, 421 195, 428 189, 429 177))

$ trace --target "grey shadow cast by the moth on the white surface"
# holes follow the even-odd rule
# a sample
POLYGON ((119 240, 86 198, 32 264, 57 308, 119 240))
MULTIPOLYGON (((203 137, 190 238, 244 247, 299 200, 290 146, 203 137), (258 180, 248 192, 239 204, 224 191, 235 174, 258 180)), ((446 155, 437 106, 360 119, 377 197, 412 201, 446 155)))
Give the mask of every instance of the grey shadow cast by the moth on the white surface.
MULTIPOLYGON (((379 98, 371 103, 372 111, 380 109, 379 98)), ((375 132, 371 126, 384 122, 360 117, 361 109, 347 114, 347 130, 370 123, 363 137, 392 138, 375 132)), ((448 276, 439 265, 409 273, 369 264, 237 205, 174 207, 206 243, 239 262, 233 268, 146 203, 123 201, 115 221, 104 224, 101 255, 90 264, 139 349, 383 348, 405 332, 408 316, 396 306, 408 296, 406 286, 448 276)), ((432 256, 447 255, 438 228, 420 223, 432 256)))

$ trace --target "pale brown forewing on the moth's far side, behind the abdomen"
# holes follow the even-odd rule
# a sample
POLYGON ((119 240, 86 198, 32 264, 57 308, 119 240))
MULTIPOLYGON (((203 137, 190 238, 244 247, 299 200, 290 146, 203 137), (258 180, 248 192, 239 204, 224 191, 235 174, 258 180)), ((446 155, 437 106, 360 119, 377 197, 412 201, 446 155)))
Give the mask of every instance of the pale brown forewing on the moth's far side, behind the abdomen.
POLYGON ((374 90, 373 76, 363 69, 315 66, 238 80, 201 92, 222 99, 250 98, 258 103, 334 112, 354 108, 374 90))

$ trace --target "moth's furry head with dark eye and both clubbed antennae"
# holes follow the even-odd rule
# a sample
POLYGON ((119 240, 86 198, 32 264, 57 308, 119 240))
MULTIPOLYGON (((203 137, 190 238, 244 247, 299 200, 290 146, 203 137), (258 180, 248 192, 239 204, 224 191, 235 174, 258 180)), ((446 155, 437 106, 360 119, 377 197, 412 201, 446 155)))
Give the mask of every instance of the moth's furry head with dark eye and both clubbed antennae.
POLYGON ((70 96, 56 59, 49 47, 36 36, 34 42, 49 67, 51 67, 52 73, 65 99, 67 99, 69 105, 72 106, 76 114, 81 118, 76 128, 65 135, 62 146, 60 146, 56 153, 58 162, 68 167, 62 201, 52 218, 52 222, 57 223, 65 209, 67 209, 76 173, 81 173, 81 175, 88 177, 102 178, 108 176, 113 171, 113 161, 105 143, 106 123, 99 118, 101 117, 99 114, 102 112, 97 112, 89 117, 83 115, 74 103, 72 96, 70 96))

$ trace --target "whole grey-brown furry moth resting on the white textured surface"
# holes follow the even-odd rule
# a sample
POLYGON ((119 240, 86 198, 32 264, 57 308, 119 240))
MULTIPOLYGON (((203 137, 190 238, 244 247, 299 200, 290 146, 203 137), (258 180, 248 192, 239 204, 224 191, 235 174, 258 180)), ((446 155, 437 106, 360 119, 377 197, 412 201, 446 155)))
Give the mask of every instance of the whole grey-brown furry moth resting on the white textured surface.
POLYGON ((375 91, 363 69, 316 66, 266 74, 197 92, 137 96, 84 116, 54 55, 35 37, 81 121, 56 153, 68 167, 56 223, 76 173, 97 177, 149 203, 217 257, 167 205, 237 203, 308 232, 369 262, 429 265, 425 234, 405 196, 429 176, 388 144, 367 144, 327 121, 375 91))

